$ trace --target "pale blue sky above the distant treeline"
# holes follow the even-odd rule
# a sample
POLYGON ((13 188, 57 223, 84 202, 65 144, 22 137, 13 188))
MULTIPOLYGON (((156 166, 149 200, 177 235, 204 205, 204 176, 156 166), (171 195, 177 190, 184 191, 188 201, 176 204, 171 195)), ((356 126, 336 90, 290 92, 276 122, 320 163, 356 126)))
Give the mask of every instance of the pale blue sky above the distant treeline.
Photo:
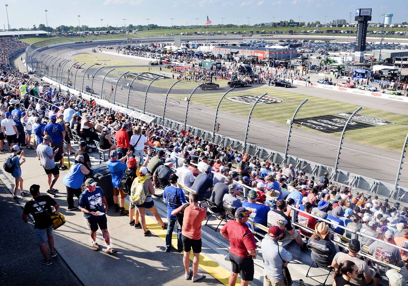
MULTIPOLYGON (((372 21, 379 15, 393 13, 393 22, 408 21, 406 0, 7 0, 3 4, 3 23, 7 26, 6 7, 11 28, 45 24, 48 10, 49 26, 81 25, 123 26, 125 24, 203 25, 207 15, 213 24, 249 24, 294 19, 296 22, 354 18, 357 8, 372 8, 372 21), (390 5, 392 3, 392 5, 390 5), (327 16, 327 18, 325 18, 327 16), (274 20, 273 20, 273 17, 274 20), (301 17, 301 18, 299 18, 301 17), (149 18, 150 20, 146 20, 149 18), (224 19, 222 19, 224 18, 224 19)), ((1 9, 1 8, 0 8, 1 9)))

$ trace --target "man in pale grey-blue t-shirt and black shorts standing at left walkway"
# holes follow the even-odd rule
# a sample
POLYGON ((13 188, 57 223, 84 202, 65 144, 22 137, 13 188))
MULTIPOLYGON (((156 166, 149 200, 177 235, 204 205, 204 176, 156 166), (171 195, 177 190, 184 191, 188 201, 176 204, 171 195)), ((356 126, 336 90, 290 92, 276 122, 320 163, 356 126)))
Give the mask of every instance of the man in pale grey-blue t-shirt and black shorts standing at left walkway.
POLYGON ((54 157, 58 153, 58 149, 53 152, 53 149, 49 147, 51 137, 44 135, 42 143, 37 146, 37 158, 41 162, 41 166, 45 170, 45 174, 48 177, 48 190, 47 193, 55 195, 58 190, 54 189, 54 185, 60 177, 60 171, 55 165, 54 157), (54 176, 54 179, 52 177, 54 176))

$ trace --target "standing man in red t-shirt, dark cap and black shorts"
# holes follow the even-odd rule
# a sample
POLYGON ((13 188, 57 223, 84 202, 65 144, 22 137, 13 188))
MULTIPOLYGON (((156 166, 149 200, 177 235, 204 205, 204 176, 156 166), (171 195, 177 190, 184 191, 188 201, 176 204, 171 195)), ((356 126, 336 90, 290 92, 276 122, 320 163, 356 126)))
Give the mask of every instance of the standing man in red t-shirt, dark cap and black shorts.
POLYGON ((253 280, 253 259, 257 258, 257 244, 253 233, 246 222, 250 211, 240 207, 235 212, 235 220, 228 220, 221 228, 221 235, 230 241, 230 261, 232 273, 228 284, 235 285, 238 273, 241 275, 241 286, 253 280))

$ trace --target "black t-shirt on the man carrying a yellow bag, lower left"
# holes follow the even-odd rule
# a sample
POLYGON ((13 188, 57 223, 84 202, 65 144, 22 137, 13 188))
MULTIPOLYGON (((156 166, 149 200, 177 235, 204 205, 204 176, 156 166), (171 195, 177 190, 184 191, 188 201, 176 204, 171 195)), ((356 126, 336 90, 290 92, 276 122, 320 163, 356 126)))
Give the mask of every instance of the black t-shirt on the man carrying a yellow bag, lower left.
POLYGON ((24 210, 22 211, 23 214, 29 215, 32 214, 34 217, 34 227, 40 230, 45 230, 53 224, 53 221, 47 215, 41 207, 49 213, 52 213, 51 206, 57 205, 57 202, 54 198, 50 197, 49 195, 39 195, 35 198, 35 201, 38 203, 34 203, 33 200, 27 202, 24 206, 24 210), (39 207, 40 205, 41 207, 39 207))

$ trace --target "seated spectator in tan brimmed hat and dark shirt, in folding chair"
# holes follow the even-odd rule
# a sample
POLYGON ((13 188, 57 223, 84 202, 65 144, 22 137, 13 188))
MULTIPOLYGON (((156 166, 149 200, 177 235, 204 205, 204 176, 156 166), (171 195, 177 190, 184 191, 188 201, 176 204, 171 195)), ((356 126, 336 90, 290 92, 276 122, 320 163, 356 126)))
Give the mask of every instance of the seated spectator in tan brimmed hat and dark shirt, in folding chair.
POLYGON ((339 248, 331 241, 330 228, 327 223, 315 225, 315 233, 308 240, 308 248, 312 250, 312 260, 320 265, 328 266, 333 261, 339 248))

